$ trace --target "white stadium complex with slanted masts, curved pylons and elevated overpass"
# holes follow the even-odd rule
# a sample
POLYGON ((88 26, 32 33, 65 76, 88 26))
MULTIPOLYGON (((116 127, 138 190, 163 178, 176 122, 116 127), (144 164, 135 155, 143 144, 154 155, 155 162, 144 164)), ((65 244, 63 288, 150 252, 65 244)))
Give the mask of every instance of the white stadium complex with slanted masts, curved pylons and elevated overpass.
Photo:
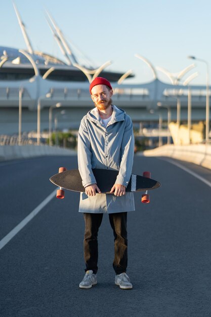
POLYGON ((128 80, 125 84, 125 78, 134 77, 131 71, 107 71, 109 62, 97 69, 79 63, 49 14, 49 26, 66 62, 43 52, 35 52, 16 7, 15 11, 27 49, 0 47, 0 135, 18 134, 20 125, 21 133, 38 129, 40 132, 48 130, 49 109, 53 108, 53 117, 55 113, 65 110, 65 117, 61 115, 58 120, 59 128, 77 129, 81 117, 93 107, 89 84, 98 75, 111 82, 114 89, 113 103, 125 109, 134 123, 157 122, 159 114, 162 115, 163 122, 167 122, 166 108, 171 110, 171 120, 187 123, 188 101, 191 102, 192 122, 205 121, 207 115, 209 117, 206 86, 190 85, 194 74, 181 84, 183 75, 193 64, 178 74, 177 78, 170 76, 172 84, 165 84, 159 80, 153 65, 137 55, 151 68, 153 81, 146 84, 128 84, 128 80), (58 103, 60 109, 56 110, 58 103))

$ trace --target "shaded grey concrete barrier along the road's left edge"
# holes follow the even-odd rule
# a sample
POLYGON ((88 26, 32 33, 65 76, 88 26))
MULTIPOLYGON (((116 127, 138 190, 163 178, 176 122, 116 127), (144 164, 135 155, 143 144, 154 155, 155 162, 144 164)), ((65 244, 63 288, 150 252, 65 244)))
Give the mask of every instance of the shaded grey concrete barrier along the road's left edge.
POLYGON ((76 155, 76 151, 48 145, 1 145, 0 162, 48 155, 76 155))

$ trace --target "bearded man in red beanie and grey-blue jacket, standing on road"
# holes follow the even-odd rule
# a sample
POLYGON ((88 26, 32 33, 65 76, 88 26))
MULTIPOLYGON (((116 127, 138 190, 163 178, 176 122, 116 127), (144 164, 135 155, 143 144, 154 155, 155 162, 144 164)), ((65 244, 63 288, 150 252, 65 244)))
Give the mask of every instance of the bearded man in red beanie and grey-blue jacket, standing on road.
POLYGON ((135 210, 132 192, 125 193, 132 173, 134 135, 131 118, 112 105, 113 90, 109 81, 96 77, 90 84, 95 108, 85 115, 78 132, 78 169, 85 192, 80 193, 79 212, 85 219, 83 241, 86 274, 80 288, 97 284, 98 229, 104 213, 108 213, 114 234, 115 284, 131 289, 126 274, 128 264, 127 212, 135 210), (118 170, 112 194, 101 193, 92 169, 118 170))

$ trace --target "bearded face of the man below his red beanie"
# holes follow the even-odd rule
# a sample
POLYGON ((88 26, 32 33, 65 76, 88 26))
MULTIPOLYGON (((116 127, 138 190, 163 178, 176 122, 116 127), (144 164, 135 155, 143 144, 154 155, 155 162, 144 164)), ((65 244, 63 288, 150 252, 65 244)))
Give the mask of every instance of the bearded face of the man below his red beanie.
POLYGON ((106 85, 94 86, 91 93, 91 98, 99 110, 105 110, 111 105, 113 90, 109 90, 106 85))

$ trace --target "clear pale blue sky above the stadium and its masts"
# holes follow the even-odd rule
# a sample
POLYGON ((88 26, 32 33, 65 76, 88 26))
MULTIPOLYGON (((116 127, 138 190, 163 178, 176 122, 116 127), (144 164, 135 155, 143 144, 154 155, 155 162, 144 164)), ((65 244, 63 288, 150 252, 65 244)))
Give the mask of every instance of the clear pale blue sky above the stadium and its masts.
MULTIPOLYGON (((192 85, 206 84, 206 64, 188 59, 195 56, 211 65, 211 2, 208 0, 15 0, 34 50, 65 61, 46 21, 45 9, 56 20, 66 38, 85 56, 108 70, 133 70, 135 78, 125 83, 153 80, 149 66, 163 67, 175 76, 195 63, 192 85)), ((0 46, 26 49, 11 0, 0 0, 0 46)), ((170 83, 157 71, 158 78, 170 83)), ((211 83, 211 76, 210 76, 211 83)))

